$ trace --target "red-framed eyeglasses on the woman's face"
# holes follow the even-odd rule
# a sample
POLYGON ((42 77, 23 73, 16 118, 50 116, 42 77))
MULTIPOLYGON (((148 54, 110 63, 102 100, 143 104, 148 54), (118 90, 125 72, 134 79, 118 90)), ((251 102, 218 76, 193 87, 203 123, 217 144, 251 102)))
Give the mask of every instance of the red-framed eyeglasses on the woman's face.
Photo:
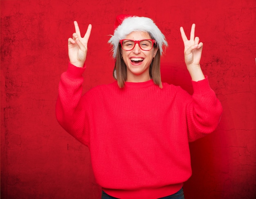
POLYGON ((125 51, 131 51, 132 49, 134 49, 136 44, 139 45, 141 50, 150 51, 154 46, 155 40, 120 40, 119 42, 121 44, 122 49, 125 51))

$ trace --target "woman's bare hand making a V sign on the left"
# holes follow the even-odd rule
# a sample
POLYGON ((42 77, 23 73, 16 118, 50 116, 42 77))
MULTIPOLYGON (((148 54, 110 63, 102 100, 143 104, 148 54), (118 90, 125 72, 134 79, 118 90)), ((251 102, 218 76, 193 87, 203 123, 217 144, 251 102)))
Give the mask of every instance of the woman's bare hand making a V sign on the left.
POLYGON ((84 37, 81 37, 78 23, 74 21, 75 33, 73 33, 73 38, 68 38, 68 56, 70 63, 77 67, 83 67, 86 54, 87 54, 87 44, 91 34, 92 25, 89 24, 84 37))

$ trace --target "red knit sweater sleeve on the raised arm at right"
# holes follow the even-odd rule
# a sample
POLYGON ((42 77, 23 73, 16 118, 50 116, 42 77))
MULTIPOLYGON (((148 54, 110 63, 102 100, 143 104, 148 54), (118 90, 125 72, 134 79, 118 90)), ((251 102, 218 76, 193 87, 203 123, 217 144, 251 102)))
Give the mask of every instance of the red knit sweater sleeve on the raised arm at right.
POLYGON ((192 81, 192 85, 194 93, 186 107, 189 142, 213 132, 222 115, 222 105, 210 88, 208 77, 198 82, 192 81))

